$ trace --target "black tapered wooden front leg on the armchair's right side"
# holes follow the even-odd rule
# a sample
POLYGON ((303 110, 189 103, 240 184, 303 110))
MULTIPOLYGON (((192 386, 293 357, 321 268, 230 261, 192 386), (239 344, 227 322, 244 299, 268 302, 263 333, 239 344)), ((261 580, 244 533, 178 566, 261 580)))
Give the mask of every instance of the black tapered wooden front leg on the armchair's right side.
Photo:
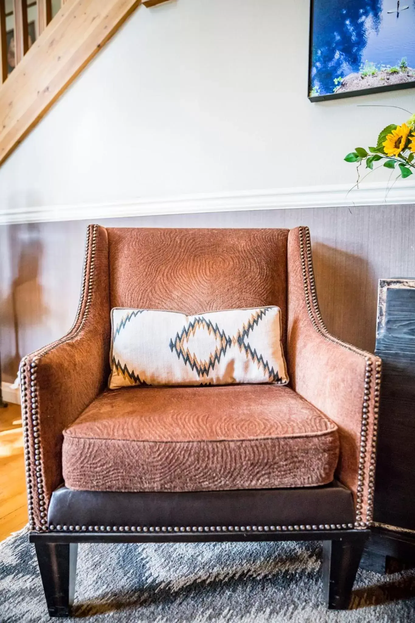
POLYGON ((324 541, 323 578, 329 610, 346 610, 367 536, 324 541))

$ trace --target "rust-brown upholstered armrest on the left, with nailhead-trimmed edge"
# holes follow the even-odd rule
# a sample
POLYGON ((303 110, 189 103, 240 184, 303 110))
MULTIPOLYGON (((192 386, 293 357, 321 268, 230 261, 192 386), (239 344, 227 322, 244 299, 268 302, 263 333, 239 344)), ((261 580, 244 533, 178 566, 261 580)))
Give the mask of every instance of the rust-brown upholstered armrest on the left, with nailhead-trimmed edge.
POLYGON ((89 226, 80 303, 72 329, 21 361, 31 530, 47 530, 50 496, 62 483, 63 430, 102 390, 109 350, 108 237, 103 227, 89 226))

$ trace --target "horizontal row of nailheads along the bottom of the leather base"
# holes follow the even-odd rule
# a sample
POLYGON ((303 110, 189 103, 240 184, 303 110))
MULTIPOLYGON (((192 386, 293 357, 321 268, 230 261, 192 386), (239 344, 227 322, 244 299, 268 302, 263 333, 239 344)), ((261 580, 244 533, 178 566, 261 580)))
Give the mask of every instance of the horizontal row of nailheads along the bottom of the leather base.
MULTIPOLYGON (((313 530, 350 530, 355 528, 353 523, 301 525, 301 526, 75 526, 75 531, 82 532, 279 532, 279 531, 313 531, 313 530)), ((49 530, 73 531, 73 526, 50 525, 49 530)))

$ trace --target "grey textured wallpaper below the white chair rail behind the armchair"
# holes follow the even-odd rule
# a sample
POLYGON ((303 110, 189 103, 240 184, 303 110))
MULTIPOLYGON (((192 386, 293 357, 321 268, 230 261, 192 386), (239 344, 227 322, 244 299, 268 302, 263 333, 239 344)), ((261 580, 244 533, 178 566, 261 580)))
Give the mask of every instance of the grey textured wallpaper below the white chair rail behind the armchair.
MULTIPOLYGON (((415 206, 222 212, 103 220, 111 227, 310 227, 327 328, 373 350, 378 278, 415 277, 415 206)), ((60 338, 77 311, 86 222, 0 227, 4 380, 19 359, 60 338)))

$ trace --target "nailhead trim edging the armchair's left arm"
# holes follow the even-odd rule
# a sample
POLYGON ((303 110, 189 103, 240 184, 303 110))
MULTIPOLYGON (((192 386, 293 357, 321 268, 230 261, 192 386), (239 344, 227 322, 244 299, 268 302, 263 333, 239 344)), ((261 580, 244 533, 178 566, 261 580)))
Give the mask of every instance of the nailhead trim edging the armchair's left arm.
MULTIPOLYGON (((82 286, 80 293, 80 300, 78 304, 77 315, 75 316, 75 321, 72 325, 70 331, 68 331, 67 336, 62 338, 62 340, 58 340, 49 346, 45 346, 45 348, 36 351, 30 356, 22 359, 20 366, 20 379, 21 379, 21 402, 22 402, 22 422, 23 422, 23 434, 24 434, 24 455, 25 455, 25 463, 26 463, 26 485, 27 485, 27 497, 28 497, 28 509, 29 509, 29 526, 31 530, 39 531, 47 531, 47 506, 45 501, 44 491, 46 490, 44 483, 44 476, 42 473, 42 450, 40 444, 40 430, 39 430, 39 393, 37 388, 37 363, 41 356, 50 353, 50 351, 54 350, 54 348, 66 341, 69 341, 73 338, 73 335, 76 335, 78 331, 80 331, 85 323, 85 320, 88 316, 88 312, 91 305, 92 298, 92 288, 94 283, 94 269, 95 269, 95 250, 96 250, 96 229, 97 226, 94 225, 92 228, 92 237, 91 237, 91 228, 88 227, 88 231, 86 232, 86 245, 85 245, 85 257, 83 263, 83 275, 82 275, 82 286), (75 334, 72 333, 75 326, 77 325, 80 315, 82 312, 82 305, 85 299, 85 288, 86 288, 86 279, 87 279, 87 267, 88 267, 88 255, 91 249, 91 262, 89 269, 89 282, 88 282, 88 293, 86 297, 86 305, 85 310, 83 312, 82 320, 80 325, 77 328, 75 334), (32 359, 29 366, 29 359, 32 359), (29 376, 29 382, 26 381, 26 376, 29 376), (32 424, 32 438, 34 439, 34 447, 33 454, 34 458, 30 459, 30 432, 29 432, 29 419, 31 419, 32 424), (30 470, 30 465, 34 464, 34 472, 36 474, 35 479, 32 476, 32 472, 30 470), (34 498, 34 493, 37 493, 37 501, 39 504, 39 513, 40 513, 40 526, 35 525, 34 518, 34 507, 32 500, 34 498)), ((62 526, 57 526, 57 530, 59 530, 62 526)), ((77 526, 76 529, 78 529, 77 526)), ((54 528, 50 527, 50 529, 54 530, 54 528)), ((63 526, 63 530, 67 530, 68 526, 63 526)), ((69 530, 74 530, 73 526, 69 527, 69 530)))

